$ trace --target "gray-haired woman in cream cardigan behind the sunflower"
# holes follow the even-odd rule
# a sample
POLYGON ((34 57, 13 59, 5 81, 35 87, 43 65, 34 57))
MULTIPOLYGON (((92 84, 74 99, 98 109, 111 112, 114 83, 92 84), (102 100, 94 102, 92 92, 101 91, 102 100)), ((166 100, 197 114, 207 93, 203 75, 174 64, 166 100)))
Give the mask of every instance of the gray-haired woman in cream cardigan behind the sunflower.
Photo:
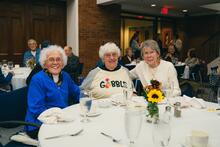
POLYGON ((143 87, 151 80, 158 80, 163 89, 172 87, 172 96, 181 94, 177 72, 171 62, 160 58, 160 48, 155 40, 146 40, 141 45, 141 55, 144 59, 130 71, 132 78, 140 79, 143 87))

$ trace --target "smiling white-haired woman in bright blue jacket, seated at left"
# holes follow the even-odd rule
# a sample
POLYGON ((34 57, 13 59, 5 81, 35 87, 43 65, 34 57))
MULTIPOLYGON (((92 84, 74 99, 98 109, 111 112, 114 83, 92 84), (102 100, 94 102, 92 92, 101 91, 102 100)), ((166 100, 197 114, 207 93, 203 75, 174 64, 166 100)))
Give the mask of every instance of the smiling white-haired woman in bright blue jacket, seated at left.
MULTIPOLYGON (((65 108, 68 99, 79 100, 79 87, 72 81, 68 73, 62 71, 67 64, 64 50, 56 45, 44 48, 40 54, 43 68, 31 79, 28 89, 28 110, 26 121, 41 124, 37 117, 51 107, 65 108)), ((25 128, 27 134, 36 138, 38 129, 32 126, 25 128)))

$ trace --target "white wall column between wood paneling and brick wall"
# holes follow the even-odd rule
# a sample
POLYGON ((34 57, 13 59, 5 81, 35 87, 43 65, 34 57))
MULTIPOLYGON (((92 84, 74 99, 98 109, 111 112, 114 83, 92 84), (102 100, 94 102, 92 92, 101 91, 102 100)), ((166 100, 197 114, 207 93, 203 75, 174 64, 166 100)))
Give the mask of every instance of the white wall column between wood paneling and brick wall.
POLYGON ((67 0, 67 45, 79 55, 78 0, 67 0))

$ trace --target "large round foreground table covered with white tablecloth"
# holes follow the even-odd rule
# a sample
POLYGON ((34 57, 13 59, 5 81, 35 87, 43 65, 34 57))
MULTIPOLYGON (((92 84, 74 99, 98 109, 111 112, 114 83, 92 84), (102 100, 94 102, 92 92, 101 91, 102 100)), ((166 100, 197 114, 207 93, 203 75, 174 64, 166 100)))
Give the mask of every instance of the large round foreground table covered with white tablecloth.
MULTIPOLYGON (((108 106, 101 107, 100 100, 94 100, 97 115, 89 117, 90 122, 81 123, 80 106, 78 104, 69 106, 64 110, 73 121, 60 122, 57 124, 42 124, 38 139, 40 147, 129 147, 129 141, 125 132, 125 107, 108 106), (47 139, 58 132, 68 134, 71 130, 83 131, 75 136, 64 135, 47 139), (66 133, 65 133, 66 132, 66 133), (101 134, 104 132, 119 142, 101 134)), ((220 146, 220 111, 209 111, 210 108, 218 108, 215 103, 205 102, 205 109, 185 108, 182 109, 181 117, 173 116, 171 119, 171 139, 168 147, 189 147, 185 145, 187 136, 193 130, 205 131, 209 135, 208 147, 220 146)), ((164 112, 166 104, 159 105, 160 115, 164 112)), ((143 107, 141 108, 143 109, 143 107)), ((144 112, 144 111, 143 111, 144 112)), ((146 121, 145 113, 139 137, 135 141, 135 147, 153 147, 152 131, 154 124, 146 121)), ((56 136, 56 135, 55 135, 56 136)))

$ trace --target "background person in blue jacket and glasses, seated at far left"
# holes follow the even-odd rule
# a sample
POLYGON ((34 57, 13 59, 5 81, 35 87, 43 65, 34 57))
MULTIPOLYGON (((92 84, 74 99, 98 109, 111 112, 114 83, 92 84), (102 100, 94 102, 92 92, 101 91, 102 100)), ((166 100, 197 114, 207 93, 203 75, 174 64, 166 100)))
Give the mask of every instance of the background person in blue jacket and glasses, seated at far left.
POLYGON ((28 40, 28 51, 24 53, 23 64, 28 66, 31 60, 37 64, 39 62, 40 49, 37 48, 37 41, 34 39, 28 40))

